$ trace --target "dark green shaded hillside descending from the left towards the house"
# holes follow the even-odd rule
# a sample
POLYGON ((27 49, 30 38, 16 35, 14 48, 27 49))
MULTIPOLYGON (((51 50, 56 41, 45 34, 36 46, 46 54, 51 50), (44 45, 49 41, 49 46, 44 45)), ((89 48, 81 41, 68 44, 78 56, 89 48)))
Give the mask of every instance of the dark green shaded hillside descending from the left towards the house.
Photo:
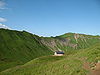
POLYGON ((52 52, 28 32, 0 29, 0 71, 52 52))

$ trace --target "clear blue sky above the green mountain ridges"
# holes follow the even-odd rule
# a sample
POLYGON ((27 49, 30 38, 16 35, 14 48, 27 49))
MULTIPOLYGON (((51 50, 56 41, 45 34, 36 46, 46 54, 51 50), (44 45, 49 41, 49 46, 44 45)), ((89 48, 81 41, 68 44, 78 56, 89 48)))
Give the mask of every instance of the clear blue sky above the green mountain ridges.
POLYGON ((39 36, 100 35, 100 0, 0 0, 0 23, 39 36))

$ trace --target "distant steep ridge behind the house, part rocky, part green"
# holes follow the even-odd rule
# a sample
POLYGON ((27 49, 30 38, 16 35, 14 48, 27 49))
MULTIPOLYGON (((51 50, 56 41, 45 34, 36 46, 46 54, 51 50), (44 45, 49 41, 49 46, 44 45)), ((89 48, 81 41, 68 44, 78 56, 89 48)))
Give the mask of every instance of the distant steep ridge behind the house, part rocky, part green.
POLYGON ((56 37, 41 38, 41 42, 51 50, 76 50, 93 46, 100 42, 100 36, 66 33, 56 37))

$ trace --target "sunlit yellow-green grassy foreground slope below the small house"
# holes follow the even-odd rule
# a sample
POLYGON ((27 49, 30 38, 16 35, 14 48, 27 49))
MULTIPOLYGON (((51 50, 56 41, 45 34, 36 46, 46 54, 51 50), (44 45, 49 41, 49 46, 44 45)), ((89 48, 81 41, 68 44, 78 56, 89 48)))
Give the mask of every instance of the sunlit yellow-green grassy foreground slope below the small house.
POLYGON ((65 56, 47 56, 1 72, 1 75, 88 75, 84 63, 100 61, 100 44, 91 48, 70 51, 65 56))

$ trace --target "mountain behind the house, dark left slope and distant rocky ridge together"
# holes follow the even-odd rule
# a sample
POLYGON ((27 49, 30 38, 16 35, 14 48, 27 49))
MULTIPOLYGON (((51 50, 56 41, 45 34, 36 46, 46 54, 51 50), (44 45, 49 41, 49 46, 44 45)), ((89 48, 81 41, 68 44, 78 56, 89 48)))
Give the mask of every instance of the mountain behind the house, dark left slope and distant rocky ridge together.
MULTIPOLYGON (((80 49, 93 47, 97 43, 100 43, 100 36, 66 33, 56 37, 39 37, 26 31, 1 28, 0 71, 24 65, 31 60, 40 59, 42 56, 46 56, 43 59, 49 60, 49 55, 53 55, 57 50, 63 50, 65 54, 70 55, 80 49)), ((51 56, 50 61, 52 58, 54 58, 53 61, 56 61, 55 59, 58 60, 63 57, 51 56)), ((43 61, 45 62, 45 60, 43 61)), ((42 60, 39 60, 39 62, 42 63, 42 60)))

